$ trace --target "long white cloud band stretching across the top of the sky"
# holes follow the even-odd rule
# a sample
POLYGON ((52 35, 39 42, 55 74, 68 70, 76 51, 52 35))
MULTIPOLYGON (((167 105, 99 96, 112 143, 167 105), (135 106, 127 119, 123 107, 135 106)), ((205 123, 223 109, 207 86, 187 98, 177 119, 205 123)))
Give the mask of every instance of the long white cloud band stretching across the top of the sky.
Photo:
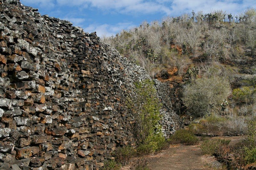
POLYGON ((255 0, 20 0, 26 4, 39 5, 40 8, 54 6, 77 6, 78 10, 91 8, 94 10, 116 12, 121 14, 154 14, 180 15, 185 12, 223 10, 240 13, 247 8, 256 8, 255 0), (96 10, 95 9, 95 10, 96 10))

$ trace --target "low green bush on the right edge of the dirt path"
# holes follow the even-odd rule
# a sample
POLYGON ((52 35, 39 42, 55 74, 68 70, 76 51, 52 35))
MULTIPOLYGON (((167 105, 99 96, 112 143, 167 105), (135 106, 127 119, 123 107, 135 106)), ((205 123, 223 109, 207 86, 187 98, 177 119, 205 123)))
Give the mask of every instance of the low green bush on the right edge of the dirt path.
POLYGON ((200 148, 203 151, 203 154, 205 155, 213 155, 216 153, 217 149, 219 149, 221 146, 227 146, 230 143, 230 140, 225 139, 214 139, 214 140, 205 140, 200 148))

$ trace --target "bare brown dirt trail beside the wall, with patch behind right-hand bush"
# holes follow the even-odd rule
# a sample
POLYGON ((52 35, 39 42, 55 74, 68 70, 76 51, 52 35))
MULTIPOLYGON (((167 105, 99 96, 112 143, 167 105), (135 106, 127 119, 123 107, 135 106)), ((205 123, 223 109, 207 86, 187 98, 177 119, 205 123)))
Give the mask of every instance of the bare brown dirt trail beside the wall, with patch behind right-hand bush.
MULTIPOLYGON (((243 137, 214 137, 238 142, 243 137)), ((148 158, 152 170, 220 169, 220 163, 213 156, 204 156, 200 144, 195 146, 177 145, 148 158)))

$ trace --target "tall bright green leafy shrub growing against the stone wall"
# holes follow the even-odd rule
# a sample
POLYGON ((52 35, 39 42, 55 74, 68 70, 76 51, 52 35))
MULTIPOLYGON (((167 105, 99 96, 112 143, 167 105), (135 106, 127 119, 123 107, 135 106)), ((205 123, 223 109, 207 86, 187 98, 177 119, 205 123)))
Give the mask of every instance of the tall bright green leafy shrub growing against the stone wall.
POLYGON ((134 117, 133 137, 137 145, 150 142, 150 137, 160 132, 159 121, 162 115, 159 112, 161 104, 157 98, 154 82, 146 79, 135 83, 136 95, 128 98, 128 109, 134 117))

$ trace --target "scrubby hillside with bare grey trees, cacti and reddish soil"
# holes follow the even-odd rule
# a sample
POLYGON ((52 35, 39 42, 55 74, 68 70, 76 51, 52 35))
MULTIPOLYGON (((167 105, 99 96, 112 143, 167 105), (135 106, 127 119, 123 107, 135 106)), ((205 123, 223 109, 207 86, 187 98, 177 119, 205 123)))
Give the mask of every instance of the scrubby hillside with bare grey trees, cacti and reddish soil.
MULTIPOLYGON (((196 112, 202 111, 202 115, 199 116, 202 117, 214 109, 214 115, 219 115, 221 103, 227 99, 232 105, 227 107, 228 114, 236 112, 237 115, 253 115, 256 73, 255 26, 255 9, 248 9, 239 16, 227 15, 222 10, 208 14, 192 11, 191 14, 175 18, 166 17, 162 21, 143 22, 139 27, 123 30, 116 36, 103 37, 103 41, 116 48, 133 63, 144 67, 152 78, 168 84, 175 92, 172 99, 173 105, 177 105, 177 113, 180 111, 181 114, 197 118, 196 112), (205 82, 200 82, 203 79, 205 82), (188 96, 186 87, 189 89, 193 84, 197 84, 195 86, 201 85, 204 88, 205 83, 211 79, 215 79, 216 84, 227 83, 222 87, 229 92, 219 96, 221 99, 218 101, 215 100, 217 94, 212 98, 209 95, 201 96, 202 101, 207 100, 204 102, 203 110, 193 110, 195 108, 191 106, 200 107, 200 101, 189 101, 192 96, 188 96), (240 96, 242 94, 239 92, 244 92, 246 88, 250 89, 250 94, 240 96), (245 101, 243 97, 250 98, 250 101, 245 101), (209 104, 215 106, 211 108, 207 106, 209 104)), ((195 89, 195 92, 199 88, 195 89)), ((209 92, 209 88, 213 87, 205 87, 206 91, 207 88, 209 92)), ((213 91, 218 93, 220 89, 213 91)), ((199 93, 197 95, 200 95, 199 93)))

